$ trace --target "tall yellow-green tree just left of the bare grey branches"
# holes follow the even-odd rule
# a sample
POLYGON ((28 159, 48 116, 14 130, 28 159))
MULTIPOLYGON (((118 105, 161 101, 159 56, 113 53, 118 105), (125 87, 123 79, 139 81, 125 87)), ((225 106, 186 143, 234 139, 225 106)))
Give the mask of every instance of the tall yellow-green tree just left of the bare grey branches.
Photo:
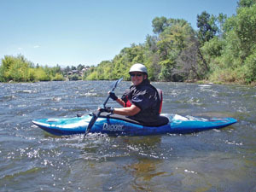
POLYGON ((180 55, 189 47, 189 41, 195 37, 195 31, 186 20, 168 20, 169 26, 159 35, 157 42, 160 55, 160 80, 182 81, 187 79, 184 69, 187 63, 181 62, 180 55), (179 60, 179 62, 177 62, 179 60))

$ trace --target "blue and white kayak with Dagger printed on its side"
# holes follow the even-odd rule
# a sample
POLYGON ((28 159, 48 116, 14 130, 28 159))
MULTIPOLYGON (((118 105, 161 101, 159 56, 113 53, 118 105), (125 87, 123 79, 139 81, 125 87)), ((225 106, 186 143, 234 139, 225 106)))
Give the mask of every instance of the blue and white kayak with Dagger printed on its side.
MULTIPOLYGON (((91 127, 91 133, 108 134, 109 136, 147 136, 160 134, 187 134, 211 129, 220 129, 235 124, 233 118, 195 118, 183 117, 178 114, 161 114, 159 125, 142 125, 136 120, 128 119, 116 114, 103 114, 96 119, 91 127), (162 120, 164 119, 164 120, 162 120)), ((90 114, 82 117, 65 119, 35 119, 32 121, 44 131, 56 136, 67 136, 73 134, 84 134, 90 123, 90 114)))

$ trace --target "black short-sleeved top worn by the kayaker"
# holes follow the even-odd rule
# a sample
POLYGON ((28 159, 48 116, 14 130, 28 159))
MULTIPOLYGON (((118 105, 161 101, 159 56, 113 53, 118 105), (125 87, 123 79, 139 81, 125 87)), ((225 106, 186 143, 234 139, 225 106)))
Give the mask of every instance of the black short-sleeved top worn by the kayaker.
POLYGON ((136 115, 129 117, 143 123, 154 122, 159 117, 160 97, 157 90, 148 80, 137 86, 131 85, 130 90, 126 90, 122 100, 129 100, 131 104, 136 105, 141 111, 136 115))

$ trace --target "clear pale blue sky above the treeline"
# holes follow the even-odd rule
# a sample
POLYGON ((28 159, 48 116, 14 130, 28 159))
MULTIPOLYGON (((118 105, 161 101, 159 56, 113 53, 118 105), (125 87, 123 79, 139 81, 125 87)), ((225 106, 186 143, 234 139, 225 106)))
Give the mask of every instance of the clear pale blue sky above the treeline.
POLYGON ((0 0, 0 59, 40 66, 97 65, 154 35, 152 20, 236 15, 236 0, 0 0))

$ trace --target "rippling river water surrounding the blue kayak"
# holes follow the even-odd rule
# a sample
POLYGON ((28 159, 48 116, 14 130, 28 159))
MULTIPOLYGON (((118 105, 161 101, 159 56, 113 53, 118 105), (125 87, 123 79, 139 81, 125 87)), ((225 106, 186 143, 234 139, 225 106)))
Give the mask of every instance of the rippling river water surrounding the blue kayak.
POLYGON ((94 111, 110 84, 0 84, 0 191, 256 191, 255 87, 153 83, 164 92, 162 113, 238 119, 221 130, 79 142, 32 125, 94 111))

